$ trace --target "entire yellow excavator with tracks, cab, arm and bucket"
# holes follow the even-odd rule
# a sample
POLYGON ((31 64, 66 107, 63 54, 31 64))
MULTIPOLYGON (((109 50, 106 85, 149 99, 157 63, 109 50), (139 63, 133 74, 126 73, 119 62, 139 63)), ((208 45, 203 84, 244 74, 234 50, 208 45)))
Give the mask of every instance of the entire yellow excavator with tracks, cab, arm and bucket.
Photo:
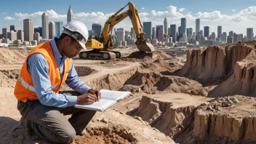
POLYGON ((87 49, 92 49, 89 51, 82 51, 79 53, 79 57, 81 59, 103 59, 103 60, 113 60, 115 58, 120 58, 121 53, 118 51, 113 51, 113 49, 118 48, 118 39, 116 36, 111 35, 111 31, 113 26, 124 20, 128 17, 132 21, 132 26, 135 29, 137 41, 135 44, 137 45, 137 49, 140 52, 153 52, 155 48, 148 41, 148 39, 144 38, 145 33, 143 33, 143 25, 140 22, 140 16, 135 8, 135 4, 132 2, 128 2, 128 4, 119 11, 117 11, 114 15, 108 18, 105 22, 103 31, 100 33, 99 39, 89 39, 87 41, 86 47, 87 49), (119 14, 125 7, 129 5, 129 9, 125 12, 119 14))

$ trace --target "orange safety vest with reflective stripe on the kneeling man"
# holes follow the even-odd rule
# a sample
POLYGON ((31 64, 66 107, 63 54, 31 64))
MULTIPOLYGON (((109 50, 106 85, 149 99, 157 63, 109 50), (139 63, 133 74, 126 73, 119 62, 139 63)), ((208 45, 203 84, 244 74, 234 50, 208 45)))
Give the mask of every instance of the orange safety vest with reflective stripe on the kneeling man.
MULTIPOLYGON (((57 66, 55 61, 55 56, 52 52, 52 47, 50 42, 45 42, 43 44, 39 44, 38 46, 34 47, 31 52, 29 52, 28 57, 33 55, 34 53, 41 53, 47 60, 48 67, 49 67, 49 80, 51 81, 51 88, 53 92, 59 92, 61 87, 63 86, 65 80, 68 77, 68 71, 71 67, 71 59, 66 58, 64 61, 64 74, 63 79, 60 78, 60 70, 57 66)), ((27 100, 37 100, 38 97, 36 96, 35 87, 33 87, 33 81, 31 73, 28 72, 27 68, 27 60, 23 63, 23 67, 20 70, 20 76, 17 79, 16 86, 15 86, 15 97, 18 100, 23 101, 24 103, 27 100)))

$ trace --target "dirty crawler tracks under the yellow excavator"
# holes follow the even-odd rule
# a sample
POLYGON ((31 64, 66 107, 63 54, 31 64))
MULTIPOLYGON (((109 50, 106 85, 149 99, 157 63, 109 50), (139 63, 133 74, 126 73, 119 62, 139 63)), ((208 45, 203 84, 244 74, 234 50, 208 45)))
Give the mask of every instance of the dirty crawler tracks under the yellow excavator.
POLYGON ((91 50, 84 51, 79 53, 79 57, 81 59, 86 60, 115 60, 116 58, 121 57, 120 52, 116 51, 99 51, 99 50, 91 50))

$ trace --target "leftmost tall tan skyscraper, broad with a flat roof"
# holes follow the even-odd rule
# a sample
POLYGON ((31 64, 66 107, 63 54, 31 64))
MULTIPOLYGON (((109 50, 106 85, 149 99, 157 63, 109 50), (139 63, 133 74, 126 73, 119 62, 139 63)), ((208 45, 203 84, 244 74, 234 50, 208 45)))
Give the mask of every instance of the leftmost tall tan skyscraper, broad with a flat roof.
POLYGON ((33 20, 23 20, 24 41, 33 41, 33 20))

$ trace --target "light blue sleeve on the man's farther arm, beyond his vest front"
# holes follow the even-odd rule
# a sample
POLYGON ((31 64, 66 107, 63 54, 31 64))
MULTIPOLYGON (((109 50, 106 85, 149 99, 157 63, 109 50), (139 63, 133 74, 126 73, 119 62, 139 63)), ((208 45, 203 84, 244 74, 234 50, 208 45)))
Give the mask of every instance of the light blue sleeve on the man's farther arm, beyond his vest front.
POLYGON ((87 84, 84 84, 84 82, 79 79, 76 69, 73 66, 73 61, 71 61, 71 68, 65 83, 68 84, 68 87, 71 87, 71 89, 74 89, 76 92, 81 94, 86 94, 88 90, 91 89, 91 87, 87 86, 87 84))

